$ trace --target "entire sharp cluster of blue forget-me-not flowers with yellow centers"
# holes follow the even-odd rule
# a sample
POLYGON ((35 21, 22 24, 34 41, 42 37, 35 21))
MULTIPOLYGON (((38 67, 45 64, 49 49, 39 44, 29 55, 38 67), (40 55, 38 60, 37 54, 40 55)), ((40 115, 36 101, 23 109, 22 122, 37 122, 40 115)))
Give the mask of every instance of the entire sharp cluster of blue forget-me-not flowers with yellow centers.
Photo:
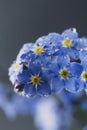
POLYGON ((9 68, 14 90, 27 97, 87 91, 87 38, 75 28, 26 43, 9 68))

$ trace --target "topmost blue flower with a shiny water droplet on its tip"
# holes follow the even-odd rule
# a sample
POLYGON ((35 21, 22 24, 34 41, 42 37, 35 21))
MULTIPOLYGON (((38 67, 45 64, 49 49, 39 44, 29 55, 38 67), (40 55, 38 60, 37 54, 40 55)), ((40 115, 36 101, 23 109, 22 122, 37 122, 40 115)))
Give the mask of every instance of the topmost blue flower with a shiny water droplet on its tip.
POLYGON ((61 34, 60 49, 58 52, 59 56, 69 55, 74 59, 79 59, 79 40, 78 33, 75 28, 65 30, 61 34))

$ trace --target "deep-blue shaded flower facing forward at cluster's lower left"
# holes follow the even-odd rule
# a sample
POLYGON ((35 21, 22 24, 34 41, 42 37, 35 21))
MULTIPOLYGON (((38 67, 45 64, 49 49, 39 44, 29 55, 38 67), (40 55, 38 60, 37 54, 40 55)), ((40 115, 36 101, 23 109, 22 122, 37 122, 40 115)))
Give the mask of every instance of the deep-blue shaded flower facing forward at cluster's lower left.
POLYGON ((30 63, 29 69, 17 74, 17 82, 24 84, 22 94, 29 97, 35 95, 50 95, 50 80, 46 70, 39 63, 30 63))

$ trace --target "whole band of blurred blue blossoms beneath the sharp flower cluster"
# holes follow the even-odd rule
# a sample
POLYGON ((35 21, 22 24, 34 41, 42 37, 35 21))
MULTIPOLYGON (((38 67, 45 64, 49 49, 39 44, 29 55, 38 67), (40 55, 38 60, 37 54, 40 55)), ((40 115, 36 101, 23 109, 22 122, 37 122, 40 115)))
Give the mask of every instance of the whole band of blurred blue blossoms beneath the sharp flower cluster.
POLYGON ((79 107, 87 110, 86 98, 82 96, 82 93, 62 91, 56 96, 47 98, 40 96, 25 98, 12 94, 3 84, 0 84, 0 108, 6 116, 12 120, 18 115, 32 115, 40 130, 70 130, 75 110, 79 107), (76 105, 79 107, 76 108, 76 105))

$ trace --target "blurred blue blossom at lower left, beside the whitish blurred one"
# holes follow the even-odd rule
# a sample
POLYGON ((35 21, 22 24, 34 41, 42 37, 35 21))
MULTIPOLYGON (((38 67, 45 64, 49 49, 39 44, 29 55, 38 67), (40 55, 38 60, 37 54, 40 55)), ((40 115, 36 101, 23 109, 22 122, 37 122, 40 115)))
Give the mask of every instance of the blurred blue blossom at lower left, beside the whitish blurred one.
POLYGON ((10 89, 0 83, 0 108, 4 111, 8 119, 15 119, 18 115, 30 115, 34 113, 36 103, 39 98, 25 98, 18 94, 9 94, 10 89))

